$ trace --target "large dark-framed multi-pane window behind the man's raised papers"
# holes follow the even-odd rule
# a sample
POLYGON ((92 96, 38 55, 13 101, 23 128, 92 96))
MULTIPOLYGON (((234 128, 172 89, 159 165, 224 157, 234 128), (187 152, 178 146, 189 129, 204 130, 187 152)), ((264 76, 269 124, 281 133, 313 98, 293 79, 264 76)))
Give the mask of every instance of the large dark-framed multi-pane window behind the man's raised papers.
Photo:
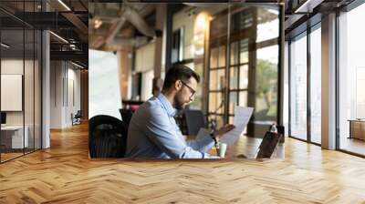
POLYGON ((235 106, 255 107, 246 129, 250 137, 263 137, 277 121, 278 15, 273 7, 233 4, 211 22, 209 115, 232 123, 235 106), (228 20, 231 29, 224 33, 228 20))

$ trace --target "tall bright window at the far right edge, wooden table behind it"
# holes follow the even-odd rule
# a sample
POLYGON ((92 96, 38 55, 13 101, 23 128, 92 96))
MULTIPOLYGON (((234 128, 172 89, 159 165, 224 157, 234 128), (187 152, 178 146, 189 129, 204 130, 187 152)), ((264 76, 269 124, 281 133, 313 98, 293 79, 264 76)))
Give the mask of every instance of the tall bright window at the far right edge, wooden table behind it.
POLYGON ((339 15, 339 148, 360 155, 365 155, 363 19, 365 4, 339 15))

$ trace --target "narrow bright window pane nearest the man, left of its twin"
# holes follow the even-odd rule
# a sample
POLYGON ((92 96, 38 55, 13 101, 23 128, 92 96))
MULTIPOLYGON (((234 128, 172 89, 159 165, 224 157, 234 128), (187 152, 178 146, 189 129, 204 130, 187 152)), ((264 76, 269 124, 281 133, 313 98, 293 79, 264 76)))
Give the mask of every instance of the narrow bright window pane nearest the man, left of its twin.
POLYGON ((307 36, 291 42, 290 131, 291 136, 307 139, 307 36))

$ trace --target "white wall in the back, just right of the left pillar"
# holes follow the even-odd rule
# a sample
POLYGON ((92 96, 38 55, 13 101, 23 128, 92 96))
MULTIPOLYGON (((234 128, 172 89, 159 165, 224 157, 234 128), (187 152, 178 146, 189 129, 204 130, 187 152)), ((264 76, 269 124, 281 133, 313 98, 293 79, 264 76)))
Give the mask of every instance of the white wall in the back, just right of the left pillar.
POLYGON ((65 61, 51 61, 50 66, 50 128, 70 127, 71 114, 81 107, 80 71, 65 61))

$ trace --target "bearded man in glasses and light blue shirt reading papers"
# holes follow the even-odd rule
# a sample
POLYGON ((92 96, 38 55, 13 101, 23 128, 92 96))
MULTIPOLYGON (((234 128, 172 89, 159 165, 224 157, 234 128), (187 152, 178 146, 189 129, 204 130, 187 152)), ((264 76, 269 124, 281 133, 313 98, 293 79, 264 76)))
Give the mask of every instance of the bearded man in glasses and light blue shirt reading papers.
POLYGON ((234 128, 226 125, 199 140, 185 141, 174 116, 176 109, 193 101, 200 76, 187 66, 172 66, 165 76, 162 93, 141 105, 130 120, 128 158, 215 158, 206 153, 234 128))

